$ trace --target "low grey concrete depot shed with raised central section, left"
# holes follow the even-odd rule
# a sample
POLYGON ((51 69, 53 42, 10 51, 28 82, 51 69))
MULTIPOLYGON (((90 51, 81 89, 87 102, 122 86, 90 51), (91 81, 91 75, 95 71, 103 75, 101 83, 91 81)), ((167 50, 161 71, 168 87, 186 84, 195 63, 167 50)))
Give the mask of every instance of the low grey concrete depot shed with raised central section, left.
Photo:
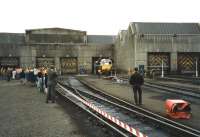
POLYGON ((94 70, 99 57, 112 58, 114 36, 87 35, 63 28, 26 30, 25 34, 0 33, 1 67, 49 67, 62 74, 94 70))

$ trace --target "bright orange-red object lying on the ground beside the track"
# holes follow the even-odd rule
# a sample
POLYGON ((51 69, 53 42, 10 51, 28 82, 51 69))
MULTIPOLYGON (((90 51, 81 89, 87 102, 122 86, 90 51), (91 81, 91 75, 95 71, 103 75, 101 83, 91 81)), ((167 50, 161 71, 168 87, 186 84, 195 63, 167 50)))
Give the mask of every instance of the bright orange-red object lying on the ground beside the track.
POLYGON ((187 101, 180 99, 167 99, 165 109, 168 116, 171 118, 189 119, 191 117, 190 104, 187 101))

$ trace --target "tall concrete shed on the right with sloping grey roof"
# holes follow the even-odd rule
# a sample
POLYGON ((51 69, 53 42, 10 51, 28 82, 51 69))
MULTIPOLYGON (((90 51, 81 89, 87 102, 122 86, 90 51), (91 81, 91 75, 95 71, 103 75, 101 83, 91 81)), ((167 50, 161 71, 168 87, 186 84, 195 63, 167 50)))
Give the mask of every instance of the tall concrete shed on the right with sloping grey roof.
POLYGON ((160 72, 163 64, 168 73, 195 74, 200 70, 200 26, 132 22, 118 33, 113 53, 121 71, 139 67, 160 72))

